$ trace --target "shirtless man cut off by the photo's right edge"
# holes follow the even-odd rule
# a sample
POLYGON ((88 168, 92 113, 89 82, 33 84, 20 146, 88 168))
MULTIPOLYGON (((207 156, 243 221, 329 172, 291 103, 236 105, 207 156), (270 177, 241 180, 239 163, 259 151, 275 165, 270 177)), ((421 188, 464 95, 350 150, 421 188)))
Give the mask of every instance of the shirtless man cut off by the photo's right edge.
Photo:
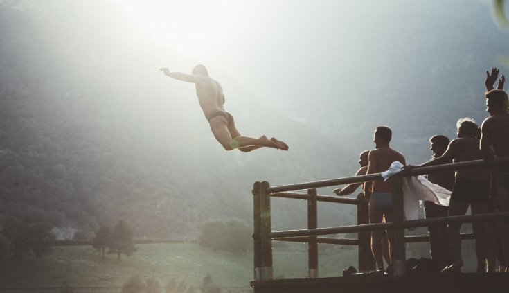
MULTIPOLYGON (((509 157, 509 114, 508 96, 501 89, 492 89, 485 94, 486 112, 490 117, 481 126, 481 154, 485 159, 495 156, 509 157)), ((495 177, 497 201, 502 211, 509 211, 509 167, 499 166, 495 177)), ((506 221, 497 222, 499 238, 506 263, 509 262, 509 233, 506 221)))

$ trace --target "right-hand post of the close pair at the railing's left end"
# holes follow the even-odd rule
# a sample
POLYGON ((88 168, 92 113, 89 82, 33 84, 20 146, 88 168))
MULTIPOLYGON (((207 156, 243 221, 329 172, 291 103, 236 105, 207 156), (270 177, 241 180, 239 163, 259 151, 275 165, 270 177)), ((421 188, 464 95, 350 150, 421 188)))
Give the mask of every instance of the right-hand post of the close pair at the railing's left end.
POLYGON ((262 280, 271 280, 273 278, 272 269, 272 240, 267 234, 272 231, 270 194, 267 194, 267 188, 270 184, 263 181, 260 184, 260 212, 261 212, 261 247, 262 247, 262 280))

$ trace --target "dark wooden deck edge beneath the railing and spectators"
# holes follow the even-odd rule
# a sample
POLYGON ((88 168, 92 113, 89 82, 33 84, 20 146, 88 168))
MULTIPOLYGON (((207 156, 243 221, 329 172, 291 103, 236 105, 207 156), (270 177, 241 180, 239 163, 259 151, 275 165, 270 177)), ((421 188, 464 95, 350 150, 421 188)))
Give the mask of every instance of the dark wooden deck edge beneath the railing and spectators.
POLYGON ((255 293, 502 293, 509 273, 454 276, 348 276, 251 281, 255 293))

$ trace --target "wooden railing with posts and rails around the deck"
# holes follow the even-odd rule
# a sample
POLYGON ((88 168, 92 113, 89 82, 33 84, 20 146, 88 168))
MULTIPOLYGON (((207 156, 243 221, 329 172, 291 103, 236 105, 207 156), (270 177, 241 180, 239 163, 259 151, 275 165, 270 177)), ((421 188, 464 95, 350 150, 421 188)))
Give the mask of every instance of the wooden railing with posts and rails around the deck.
MULTIPOLYGON (((405 242, 427 242, 428 236, 405 237, 404 229, 426 227, 429 224, 440 223, 472 223, 479 221, 494 221, 509 219, 509 212, 486 213, 478 215, 461 215, 454 217, 436 217, 433 219, 404 220, 402 177, 443 172, 447 170, 464 170, 470 168, 488 168, 492 166, 509 166, 509 157, 449 163, 440 166, 415 168, 404 175, 394 175, 389 179, 392 185, 393 222, 368 224, 368 204, 364 195, 357 195, 357 199, 318 195, 316 188, 337 186, 350 183, 361 183, 382 179, 381 174, 361 175, 323 181, 312 181, 299 184, 271 187, 267 181, 257 181, 253 186, 253 242, 254 242, 254 280, 270 280, 273 278, 272 241, 290 241, 308 243, 308 277, 317 278, 318 272, 318 244, 329 243, 338 245, 357 245, 359 270, 366 270, 370 263, 370 231, 393 229, 395 255, 393 256, 394 274, 405 274, 406 251, 405 242), (296 190, 307 189, 307 193, 295 193, 296 190), (307 229, 272 231, 271 225, 271 197, 288 199, 302 199, 307 201, 307 229), (332 202, 339 204, 353 204, 357 206, 357 225, 343 227, 318 227, 318 202, 332 202), (357 239, 325 238, 341 233, 357 233, 357 239)), ((462 239, 472 239, 472 233, 462 234, 462 239)))

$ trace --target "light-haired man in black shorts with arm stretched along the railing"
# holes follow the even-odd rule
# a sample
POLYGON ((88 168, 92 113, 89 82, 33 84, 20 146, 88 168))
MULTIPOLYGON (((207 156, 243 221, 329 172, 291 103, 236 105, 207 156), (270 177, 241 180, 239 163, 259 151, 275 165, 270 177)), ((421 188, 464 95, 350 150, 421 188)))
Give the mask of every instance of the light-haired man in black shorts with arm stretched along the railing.
MULTIPOLYGON (((432 159, 419 166, 406 166, 405 170, 416 167, 436 166, 443 163, 454 163, 481 159, 479 139, 476 138, 478 126, 471 118, 461 118, 456 123, 458 138, 449 143, 442 156, 432 159)), ((486 168, 476 168, 456 171, 456 180, 452 188, 449 202, 449 216, 465 215, 468 206, 472 208, 472 215, 488 212, 488 197, 490 194, 490 172, 486 168)), ((452 250, 453 263, 445 267, 442 272, 459 273, 463 267, 461 257, 461 224, 451 223, 447 227, 449 243, 452 250)), ((485 272, 485 261, 488 251, 488 240, 484 222, 472 224, 476 239, 477 272, 485 272)))

